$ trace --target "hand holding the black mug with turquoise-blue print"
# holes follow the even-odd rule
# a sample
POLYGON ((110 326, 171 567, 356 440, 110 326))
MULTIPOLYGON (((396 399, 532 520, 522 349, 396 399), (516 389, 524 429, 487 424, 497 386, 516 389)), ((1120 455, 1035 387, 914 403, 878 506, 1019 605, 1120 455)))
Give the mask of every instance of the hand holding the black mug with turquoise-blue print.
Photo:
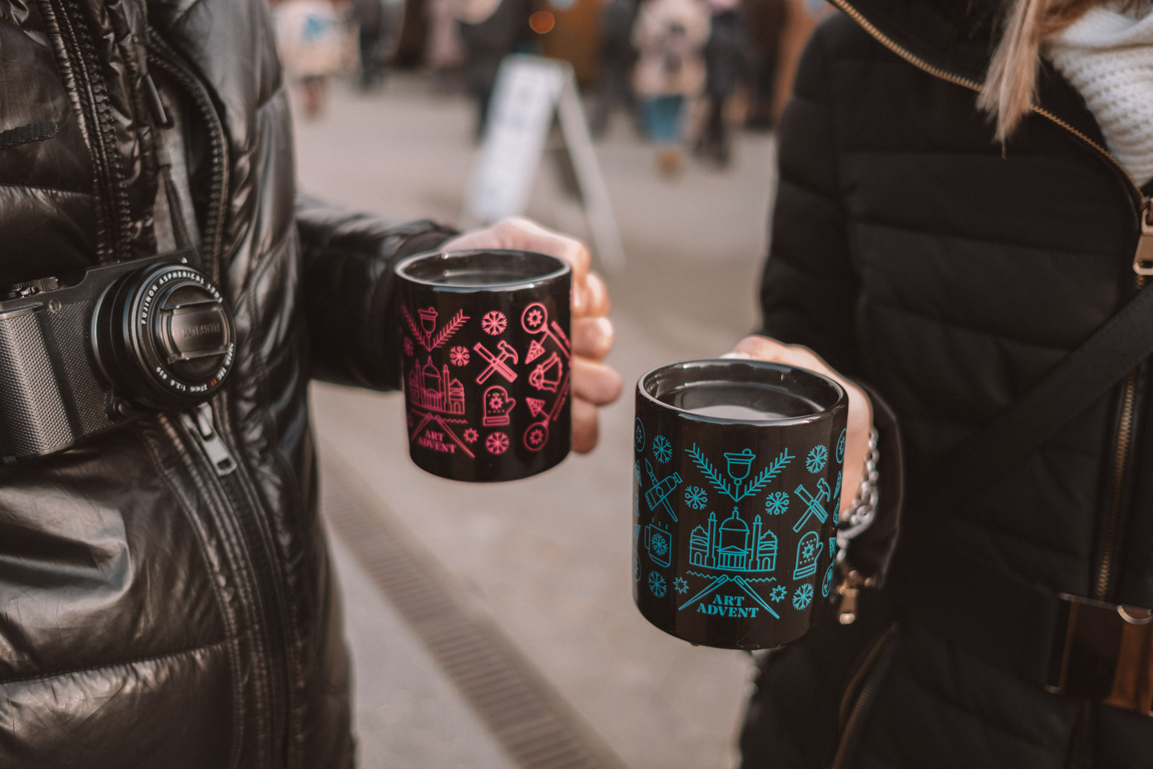
POLYGON ((841 484, 841 510, 849 506, 860 490, 868 455, 868 433, 873 428, 873 404, 865 391, 829 368, 829 364, 800 345, 783 345, 768 337, 745 337, 725 357, 752 357, 759 361, 787 363, 816 371, 834 379, 849 393, 849 428, 845 435, 845 475, 841 484))

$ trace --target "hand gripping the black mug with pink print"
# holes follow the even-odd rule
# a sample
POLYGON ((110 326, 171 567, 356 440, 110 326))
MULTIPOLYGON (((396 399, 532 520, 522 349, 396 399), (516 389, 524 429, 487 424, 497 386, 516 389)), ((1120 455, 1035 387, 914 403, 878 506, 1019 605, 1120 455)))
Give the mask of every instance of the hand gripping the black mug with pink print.
POLYGON ((588 269, 588 247, 535 221, 513 217, 453 238, 440 248, 515 248, 549 254, 572 265, 573 451, 591 451, 598 432, 596 408, 615 401, 624 383, 616 370, 602 362, 612 349, 611 304, 604 281, 588 269))

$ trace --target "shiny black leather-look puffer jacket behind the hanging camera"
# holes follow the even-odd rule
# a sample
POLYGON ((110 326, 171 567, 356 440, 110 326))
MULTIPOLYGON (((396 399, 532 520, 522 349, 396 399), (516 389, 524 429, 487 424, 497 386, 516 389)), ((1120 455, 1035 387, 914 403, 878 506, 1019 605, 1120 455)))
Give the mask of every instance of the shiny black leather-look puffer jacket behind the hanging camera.
POLYGON ((307 385, 393 385, 389 267, 449 233, 297 208, 263 0, 0 0, 0 284, 155 252, 146 75, 236 316, 239 469, 176 414, 0 469, 0 767, 348 767, 307 385))

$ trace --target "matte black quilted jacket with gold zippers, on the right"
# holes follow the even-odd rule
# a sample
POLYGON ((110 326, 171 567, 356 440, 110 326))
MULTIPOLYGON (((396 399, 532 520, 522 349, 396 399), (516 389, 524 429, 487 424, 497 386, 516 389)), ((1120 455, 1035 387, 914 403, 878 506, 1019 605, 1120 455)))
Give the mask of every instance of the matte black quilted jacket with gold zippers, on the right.
MULTIPOLYGON (((1042 112, 994 142, 973 90, 992 3, 836 2, 781 125, 763 331, 880 393, 915 488, 1133 295, 1143 193, 1048 68, 1042 112)), ((905 528, 982 574, 1153 606, 1150 382, 1144 369, 1121 379, 1025 461, 906 498, 905 528)), ((882 440, 882 485, 894 448, 882 440)), ((920 542, 903 536, 895 563, 920 542)), ((830 618, 767 658, 746 767, 1150 766, 1153 718, 1049 693, 975 653, 972 636, 996 629, 980 611, 957 636, 927 619, 959 605, 975 571, 947 571, 929 598, 907 597, 910 573, 866 594, 856 624, 830 618)))

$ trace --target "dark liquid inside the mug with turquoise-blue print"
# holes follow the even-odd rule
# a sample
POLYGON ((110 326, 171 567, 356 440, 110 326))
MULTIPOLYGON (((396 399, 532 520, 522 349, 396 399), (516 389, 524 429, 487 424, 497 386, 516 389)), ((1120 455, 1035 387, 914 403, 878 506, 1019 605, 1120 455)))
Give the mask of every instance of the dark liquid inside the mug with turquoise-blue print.
POLYGON ((700 383, 673 390, 658 399, 701 416, 741 422, 792 420, 821 410, 807 398, 778 387, 748 383, 700 383))

